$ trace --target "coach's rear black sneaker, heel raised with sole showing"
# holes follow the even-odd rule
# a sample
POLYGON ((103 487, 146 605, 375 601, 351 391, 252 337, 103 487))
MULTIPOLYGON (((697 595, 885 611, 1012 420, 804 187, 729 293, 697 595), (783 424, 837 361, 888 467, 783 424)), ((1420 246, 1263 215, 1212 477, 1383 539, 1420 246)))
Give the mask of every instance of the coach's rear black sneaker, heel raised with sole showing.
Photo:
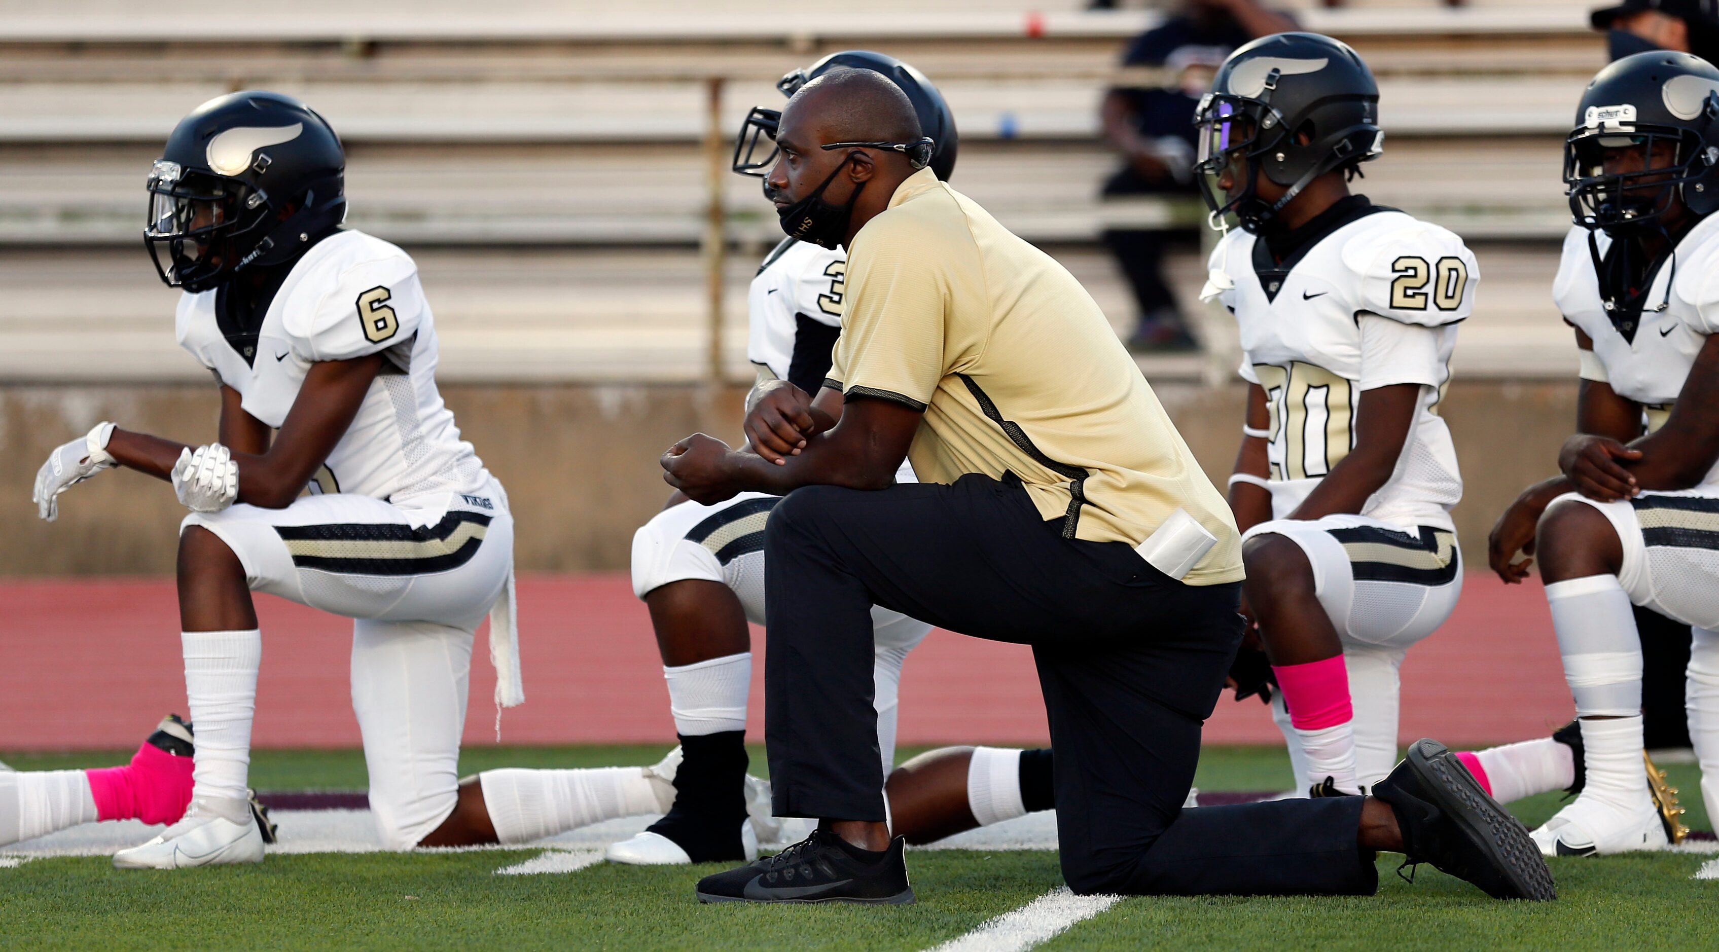
POLYGON ((1494 899, 1557 899, 1528 830, 1487 796, 1444 744, 1420 739, 1373 785, 1403 830, 1404 866, 1432 863, 1494 899))

